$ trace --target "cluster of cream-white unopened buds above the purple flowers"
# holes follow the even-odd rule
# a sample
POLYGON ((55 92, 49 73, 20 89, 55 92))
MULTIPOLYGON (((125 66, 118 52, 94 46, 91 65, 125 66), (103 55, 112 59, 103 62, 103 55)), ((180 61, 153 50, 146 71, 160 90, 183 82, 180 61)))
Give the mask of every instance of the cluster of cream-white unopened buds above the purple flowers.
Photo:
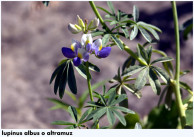
POLYGON ((99 25, 99 19, 95 18, 87 26, 87 22, 84 23, 83 20, 78 15, 77 15, 77 22, 78 24, 69 23, 68 25, 68 30, 73 34, 77 34, 81 31, 86 32, 89 30, 95 30, 99 25))

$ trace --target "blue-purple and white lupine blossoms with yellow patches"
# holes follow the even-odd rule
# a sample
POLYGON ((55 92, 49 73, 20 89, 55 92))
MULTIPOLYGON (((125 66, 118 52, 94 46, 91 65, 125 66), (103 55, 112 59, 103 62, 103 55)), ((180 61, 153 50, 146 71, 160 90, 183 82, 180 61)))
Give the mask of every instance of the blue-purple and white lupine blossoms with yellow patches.
POLYGON ((62 48, 63 55, 73 59, 75 66, 79 66, 82 61, 87 62, 90 54, 95 54, 98 58, 106 58, 110 52, 111 47, 102 47, 101 39, 97 39, 93 42, 91 34, 83 34, 81 43, 72 40, 71 48, 62 48))

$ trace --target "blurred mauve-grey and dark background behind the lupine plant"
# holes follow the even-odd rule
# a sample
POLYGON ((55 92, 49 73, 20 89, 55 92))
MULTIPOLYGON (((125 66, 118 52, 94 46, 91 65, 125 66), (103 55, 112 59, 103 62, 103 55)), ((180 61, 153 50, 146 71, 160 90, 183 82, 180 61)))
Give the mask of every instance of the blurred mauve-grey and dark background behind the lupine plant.
MULTIPOLYGON (((106 2, 95 2, 97 6, 108 8, 106 2)), ((153 24, 163 33, 161 41, 154 48, 165 51, 168 56, 175 57, 173 18, 170 2, 113 2, 116 9, 132 13, 133 5, 140 11, 140 19, 153 24)), ((89 21, 95 15, 88 2, 51 2, 45 7, 41 2, 1 2, 1 124, 2 128, 63 128, 50 123, 56 120, 72 121, 63 110, 50 111, 53 106, 46 98, 59 98, 54 95, 53 85, 49 85, 52 72, 60 60, 63 46, 70 46, 71 39, 81 40, 81 34, 73 35, 68 23, 76 23, 76 15, 89 21)), ((192 2, 177 2, 179 24, 183 24, 193 16, 192 2)), ((104 12, 101 12, 104 17, 104 12)), ((100 27, 101 28, 101 27, 100 27)), ((142 36, 133 40, 124 40, 134 51, 137 43, 143 44, 142 36)), ((106 59, 90 58, 100 73, 92 73, 92 84, 112 78, 118 67, 121 67, 128 55, 118 47, 113 47, 106 59)), ((173 61, 174 63, 174 61, 173 61)), ((191 73, 181 80, 193 84, 193 37, 181 39, 181 69, 189 69, 191 73)), ((77 72, 78 94, 87 89, 86 80, 77 72)), ((100 89, 99 89, 100 90, 100 89)), ((128 93, 129 108, 140 114, 143 119, 152 107, 157 106, 159 97, 151 88, 142 90, 143 97, 128 93)), ((63 101, 72 104, 67 95, 63 101)), ((106 125, 106 118, 104 124, 106 125)))

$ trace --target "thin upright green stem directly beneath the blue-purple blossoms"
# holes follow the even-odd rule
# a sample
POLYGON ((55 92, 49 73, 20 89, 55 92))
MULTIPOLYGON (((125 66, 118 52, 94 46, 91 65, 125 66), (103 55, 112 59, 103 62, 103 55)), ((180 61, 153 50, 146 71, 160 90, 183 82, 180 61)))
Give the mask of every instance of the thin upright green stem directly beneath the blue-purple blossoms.
MULTIPOLYGON (((88 83, 88 90, 89 90, 89 94, 90 94, 90 100, 94 101, 93 94, 92 94, 92 87, 91 87, 91 83, 90 83, 90 77, 89 77, 90 71, 89 71, 89 63, 88 62, 86 62, 86 75, 87 75, 87 83, 88 83)), ((96 128, 99 129, 99 123, 97 124, 96 128)))

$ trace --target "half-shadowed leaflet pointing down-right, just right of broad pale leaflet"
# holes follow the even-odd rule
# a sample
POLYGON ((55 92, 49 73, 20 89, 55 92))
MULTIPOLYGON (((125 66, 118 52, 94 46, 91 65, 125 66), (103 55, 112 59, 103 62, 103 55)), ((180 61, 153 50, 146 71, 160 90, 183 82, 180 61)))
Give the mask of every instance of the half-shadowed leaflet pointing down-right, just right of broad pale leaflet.
POLYGON ((154 93, 159 95, 161 92, 160 81, 152 69, 149 71, 148 78, 154 93))

